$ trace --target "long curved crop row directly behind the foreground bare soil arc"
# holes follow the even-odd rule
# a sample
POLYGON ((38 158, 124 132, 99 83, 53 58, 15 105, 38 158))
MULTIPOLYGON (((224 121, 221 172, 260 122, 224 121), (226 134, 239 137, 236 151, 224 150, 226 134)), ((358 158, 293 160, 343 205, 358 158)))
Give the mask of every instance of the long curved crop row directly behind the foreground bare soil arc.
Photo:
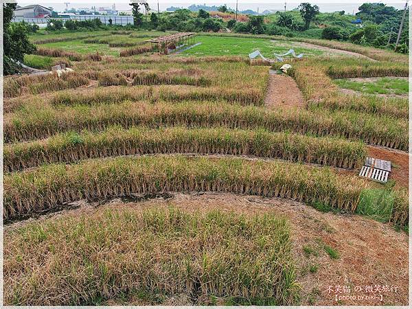
POLYGON ((354 211, 366 183, 297 163, 185 157, 120 157, 47 165, 4 178, 3 218, 55 209, 83 198, 156 192, 233 192, 292 198, 354 211))

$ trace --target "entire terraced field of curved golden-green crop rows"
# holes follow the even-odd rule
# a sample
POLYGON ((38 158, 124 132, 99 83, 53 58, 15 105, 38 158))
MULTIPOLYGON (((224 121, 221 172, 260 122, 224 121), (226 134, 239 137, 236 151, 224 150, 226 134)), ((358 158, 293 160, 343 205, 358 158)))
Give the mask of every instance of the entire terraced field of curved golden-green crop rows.
POLYGON ((283 63, 150 54, 151 35, 38 38, 73 71, 5 79, 5 303, 382 305, 326 290, 397 284, 385 304, 406 305, 408 100, 333 80, 407 62, 315 51, 288 70, 304 104, 276 105, 283 63), (371 154, 395 163, 387 185, 358 177, 371 154))

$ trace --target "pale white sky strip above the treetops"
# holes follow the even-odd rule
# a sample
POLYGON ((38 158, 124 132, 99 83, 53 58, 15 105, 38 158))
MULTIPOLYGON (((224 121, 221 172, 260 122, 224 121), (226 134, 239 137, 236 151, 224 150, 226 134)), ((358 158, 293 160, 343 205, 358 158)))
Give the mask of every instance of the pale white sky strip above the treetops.
MULTIPOLYGON (((17 0, 17 3, 21 6, 23 5, 30 5, 30 4, 40 4, 45 7, 52 6, 54 10, 62 11, 65 9, 65 2, 69 2, 69 8, 90 8, 92 5, 96 5, 98 7, 107 7, 111 8, 113 3, 116 5, 117 10, 130 10, 130 3, 129 1, 121 0, 113 0, 113 1, 99 1, 99 0, 64 0, 64 1, 56 1, 56 0, 17 0)), ((157 8, 157 0, 148 0, 147 1, 150 5, 150 8, 156 9, 157 8)), ((379 1, 379 0, 301 0, 301 1, 288 1, 286 0, 286 10, 292 10, 296 8, 297 5, 301 2, 310 2, 312 4, 316 4, 319 6, 319 10, 321 12, 334 12, 345 10, 345 12, 353 13, 357 12, 358 7, 365 2, 382 2, 387 5, 394 6, 395 8, 403 8, 405 1, 399 0, 386 0, 386 1, 379 1)), ((192 4, 206 4, 206 5, 222 5, 226 4, 228 7, 236 8, 236 0, 176 0, 176 1, 166 1, 166 0, 159 0, 159 8, 160 10, 165 10, 170 6, 176 7, 185 7, 192 5, 192 4)), ((268 1, 268 0, 238 0, 238 9, 239 10, 254 10, 259 12, 263 12, 264 10, 284 10, 285 1, 268 1)))

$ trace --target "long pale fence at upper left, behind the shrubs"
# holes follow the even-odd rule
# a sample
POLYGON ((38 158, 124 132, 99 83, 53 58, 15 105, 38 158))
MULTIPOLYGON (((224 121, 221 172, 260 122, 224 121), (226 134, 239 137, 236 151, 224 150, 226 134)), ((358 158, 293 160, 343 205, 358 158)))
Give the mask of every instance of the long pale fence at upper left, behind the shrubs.
MULTIPOLYGON (((68 18, 59 18, 60 21, 69 21, 69 20, 76 20, 76 21, 87 21, 93 19, 100 19, 102 23, 108 25, 110 24, 109 19, 112 20, 113 25, 133 25, 133 16, 118 16, 118 15, 78 15, 78 16, 70 16, 68 18)), ((47 23, 50 19, 35 19, 30 17, 14 17, 12 22, 19 23, 21 21, 25 21, 26 23, 47 23)))

